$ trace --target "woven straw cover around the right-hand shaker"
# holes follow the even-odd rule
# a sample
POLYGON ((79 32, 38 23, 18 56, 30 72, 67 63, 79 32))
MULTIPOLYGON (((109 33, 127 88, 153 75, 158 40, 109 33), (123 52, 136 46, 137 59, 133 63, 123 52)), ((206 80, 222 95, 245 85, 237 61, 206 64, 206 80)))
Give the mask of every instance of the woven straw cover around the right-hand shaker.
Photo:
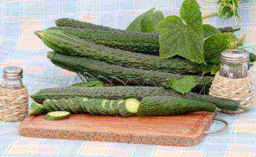
POLYGON ((244 78, 226 78, 216 73, 212 85, 209 89, 209 95, 220 98, 237 100, 244 107, 236 112, 222 109, 224 113, 241 113, 245 112, 253 104, 255 91, 253 89, 253 80, 250 73, 244 78))

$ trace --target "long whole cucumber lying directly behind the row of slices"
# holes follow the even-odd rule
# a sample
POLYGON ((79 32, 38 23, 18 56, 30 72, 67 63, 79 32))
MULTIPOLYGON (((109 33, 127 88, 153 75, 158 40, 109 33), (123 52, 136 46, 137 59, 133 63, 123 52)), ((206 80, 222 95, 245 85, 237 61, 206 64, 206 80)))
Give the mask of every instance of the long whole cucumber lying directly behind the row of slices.
POLYGON ((216 98, 206 95, 198 95, 195 93, 186 93, 184 95, 174 92, 173 90, 165 90, 161 87, 54 87, 39 90, 32 94, 31 98, 42 104, 45 99, 61 99, 73 97, 86 98, 105 98, 105 99, 126 99, 126 98, 144 98, 147 96, 173 96, 178 98, 193 98, 200 101, 208 101, 215 104, 219 109, 228 109, 237 111, 241 108, 238 101, 216 98))

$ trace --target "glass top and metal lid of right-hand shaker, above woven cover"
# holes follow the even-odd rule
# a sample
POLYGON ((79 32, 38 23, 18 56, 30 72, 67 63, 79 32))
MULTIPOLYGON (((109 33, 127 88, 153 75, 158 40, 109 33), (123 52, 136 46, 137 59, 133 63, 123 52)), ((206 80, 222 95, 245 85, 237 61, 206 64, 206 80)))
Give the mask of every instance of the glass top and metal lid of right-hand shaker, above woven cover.
POLYGON ((219 75, 226 78, 244 78, 249 69, 249 52, 243 49, 227 50, 221 53, 219 75))

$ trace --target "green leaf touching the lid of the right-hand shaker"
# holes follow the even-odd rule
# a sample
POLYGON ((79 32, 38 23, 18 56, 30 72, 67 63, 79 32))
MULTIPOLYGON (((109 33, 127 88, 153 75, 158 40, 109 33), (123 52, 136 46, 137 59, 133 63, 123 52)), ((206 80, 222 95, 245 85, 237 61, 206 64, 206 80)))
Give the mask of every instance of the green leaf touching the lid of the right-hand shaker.
POLYGON ((215 34, 204 40, 204 59, 206 62, 220 64, 220 54, 230 48, 231 36, 227 33, 215 34))

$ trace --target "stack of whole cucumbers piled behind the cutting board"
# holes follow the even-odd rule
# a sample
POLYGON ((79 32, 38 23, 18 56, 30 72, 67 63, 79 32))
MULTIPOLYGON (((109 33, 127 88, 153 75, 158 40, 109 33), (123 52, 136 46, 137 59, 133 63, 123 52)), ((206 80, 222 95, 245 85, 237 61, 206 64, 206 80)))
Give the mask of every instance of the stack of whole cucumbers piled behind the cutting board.
POLYGON ((86 72, 95 78, 118 78, 140 86, 145 81, 160 85, 169 78, 195 76, 195 89, 213 78, 201 78, 202 65, 182 57, 160 59, 157 33, 125 31, 66 18, 55 23, 58 27, 35 34, 54 50, 47 53, 47 58, 66 70, 86 72))

